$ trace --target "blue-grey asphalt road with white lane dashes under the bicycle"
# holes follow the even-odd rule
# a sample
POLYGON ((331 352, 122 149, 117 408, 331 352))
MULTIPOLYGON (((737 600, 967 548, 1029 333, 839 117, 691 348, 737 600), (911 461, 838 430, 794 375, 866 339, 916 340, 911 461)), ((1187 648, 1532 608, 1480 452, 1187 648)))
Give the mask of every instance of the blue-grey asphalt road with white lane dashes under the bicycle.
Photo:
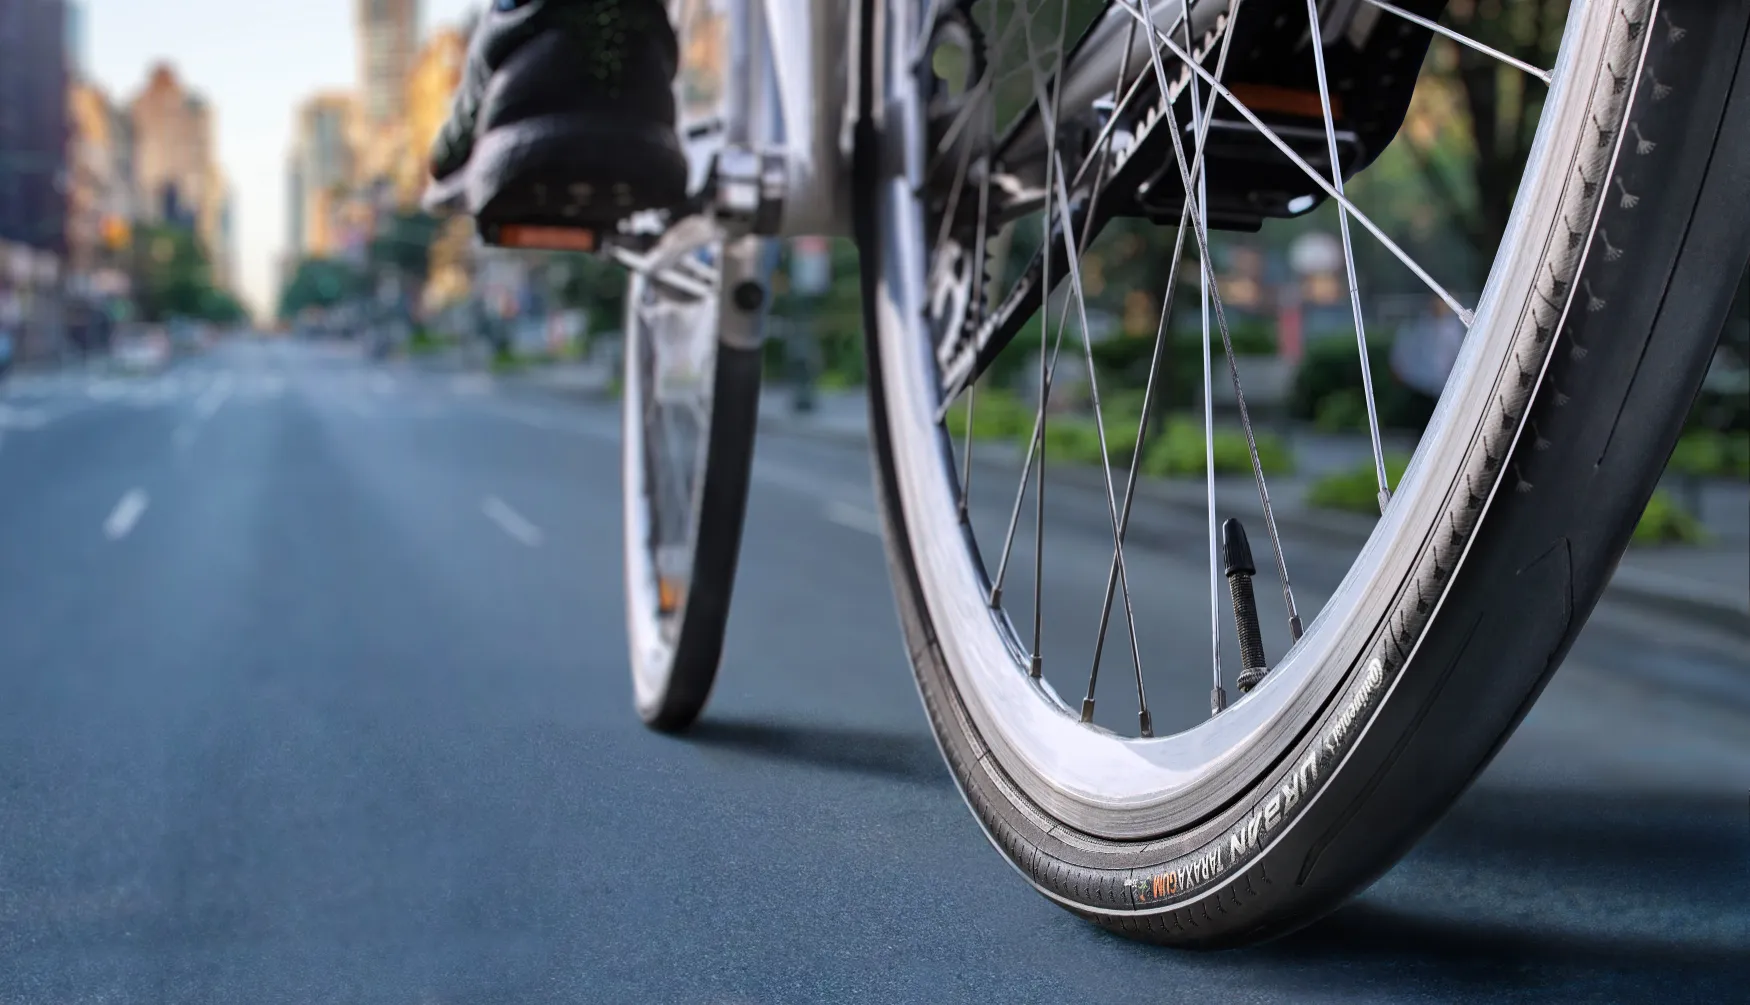
MULTIPOLYGON (((761 443, 707 720, 644 730, 616 457, 606 404, 308 345, 0 387, 0 1001, 1741 1000, 1738 643, 1601 611, 1354 905, 1172 952, 1046 903, 961 805, 856 450, 761 443)), ((1076 690, 1110 538, 1048 502, 1082 513, 1045 553, 1076 690)), ((1148 527, 1171 651, 1208 637, 1204 545, 1148 527)), ((1342 555, 1288 545, 1314 609, 1342 555)), ((1202 672, 1150 667, 1160 728, 1202 672)))

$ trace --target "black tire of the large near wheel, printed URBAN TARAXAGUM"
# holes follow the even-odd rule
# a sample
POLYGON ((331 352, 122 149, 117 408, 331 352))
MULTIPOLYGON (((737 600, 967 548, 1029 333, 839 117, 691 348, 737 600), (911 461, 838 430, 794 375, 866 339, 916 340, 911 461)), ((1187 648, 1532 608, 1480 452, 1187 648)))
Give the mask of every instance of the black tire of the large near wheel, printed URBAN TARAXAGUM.
MULTIPOLYGON (((964 627, 931 608, 919 524, 931 517, 919 499, 933 499, 908 467, 940 459, 906 446, 922 434, 901 413, 922 385, 914 368, 933 357, 906 341, 919 338, 903 331, 917 327, 914 305, 886 224, 910 212, 906 180, 894 179, 906 123, 891 95, 875 98, 887 102, 887 121, 859 147, 858 236, 872 448, 900 620, 961 793, 990 842, 1050 900, 1115 931, 1186 947, 1307 924, 1409 851, 1561 664, 1676 443, 1750 257, 1750 2, 1615 0, 1610 12, 1624 32, 1612 44, 1633 60, 1586 82, 1587 109, 1615 109, 1592 121, 1600 151, 1610 149, 1608 173, 1587 175, 1575 154, 1561 187, 1570 201, 1559 203, 1596 212, 1544 221, 1538 303, 1528 298, 1503 336, 1512 341, 1484 376, 1482 418, 1449 457, 1426 464, 1430 483, 1442 478, 1428 497, 1438 510, 1402 559, 1409 574, 1354 629, 1354 644, 1334 646, 1342 658, 1309 674, 1320 700, 1270 756, 1237 763, 1181 825, 1122 839, 1034 798, 978 725, 966 693, 973 678, 945 657, 945 641, 964 627), (1612 103, 1615 93, 1626 96, 1612 103), (1622 147, 1629 124, 1657 142, 1622 147)), ((870 93, 891 60, 873 49, 864 58, 870 93)))

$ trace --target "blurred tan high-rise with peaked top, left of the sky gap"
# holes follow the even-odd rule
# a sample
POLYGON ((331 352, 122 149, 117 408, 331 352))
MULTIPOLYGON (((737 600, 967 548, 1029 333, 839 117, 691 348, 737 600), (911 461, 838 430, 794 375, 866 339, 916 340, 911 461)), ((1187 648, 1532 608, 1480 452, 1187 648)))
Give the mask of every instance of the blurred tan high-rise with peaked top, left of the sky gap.
POLYGON ((214 285, 229 287, 228 186, 215 158, 212 107, 168 63, 159 63, 130 112, 140 219, 194 229, 212 263, 214 285))

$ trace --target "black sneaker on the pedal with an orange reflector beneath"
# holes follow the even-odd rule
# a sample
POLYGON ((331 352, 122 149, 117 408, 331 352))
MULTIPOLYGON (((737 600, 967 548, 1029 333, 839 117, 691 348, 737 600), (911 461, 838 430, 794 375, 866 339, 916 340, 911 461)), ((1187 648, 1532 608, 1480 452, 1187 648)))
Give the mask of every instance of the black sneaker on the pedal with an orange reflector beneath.
POLYGON ((677 60, 662 0, 492 0, 425 208, 471 214, 488 243, 593 250, 595 231, 679 205, 677 60))

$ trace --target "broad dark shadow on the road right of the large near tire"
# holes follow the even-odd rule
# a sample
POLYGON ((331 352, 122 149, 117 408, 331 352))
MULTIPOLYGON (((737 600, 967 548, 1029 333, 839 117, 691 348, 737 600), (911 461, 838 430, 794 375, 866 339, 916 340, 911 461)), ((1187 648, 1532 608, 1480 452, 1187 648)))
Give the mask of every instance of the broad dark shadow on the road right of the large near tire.
POLYGON ((1750 816, 1731 795, 1475 790, 1356 902, 1230 956, 1363 965, 1405 996, 1741 1000, 1746 865, 1750 816))

